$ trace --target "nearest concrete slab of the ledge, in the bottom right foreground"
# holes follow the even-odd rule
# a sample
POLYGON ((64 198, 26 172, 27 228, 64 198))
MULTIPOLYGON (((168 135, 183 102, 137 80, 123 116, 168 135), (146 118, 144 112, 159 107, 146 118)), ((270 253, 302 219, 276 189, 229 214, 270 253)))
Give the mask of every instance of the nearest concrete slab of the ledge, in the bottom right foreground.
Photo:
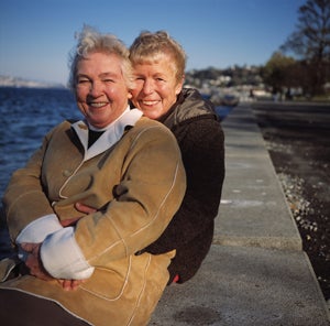
POLYGON ((194 279, 167 286, 148 325, 329 326, 302 251, 213 244, 194 279))

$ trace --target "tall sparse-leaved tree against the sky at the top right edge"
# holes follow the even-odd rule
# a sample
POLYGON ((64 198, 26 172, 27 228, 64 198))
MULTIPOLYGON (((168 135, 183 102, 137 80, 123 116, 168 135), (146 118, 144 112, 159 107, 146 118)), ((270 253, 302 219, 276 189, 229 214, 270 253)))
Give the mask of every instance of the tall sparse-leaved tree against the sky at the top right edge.
POLYGON ((280 46, 292 51, 306 66, 311 95, 330 79, 330 0, 307 0, 298 10, 296 31, 280 46))

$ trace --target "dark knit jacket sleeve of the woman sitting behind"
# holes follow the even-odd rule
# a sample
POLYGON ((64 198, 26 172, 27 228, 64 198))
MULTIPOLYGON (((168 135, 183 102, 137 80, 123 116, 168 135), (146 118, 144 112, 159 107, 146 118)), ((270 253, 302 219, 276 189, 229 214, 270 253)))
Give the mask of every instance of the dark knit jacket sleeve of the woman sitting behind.
POLYGON ((162 253, 191 243, 218 215, 224 178, 224 135, 215 119, 182 126, 176 134, 187 174, 183 204, 157 241, 146 248, 162 253))

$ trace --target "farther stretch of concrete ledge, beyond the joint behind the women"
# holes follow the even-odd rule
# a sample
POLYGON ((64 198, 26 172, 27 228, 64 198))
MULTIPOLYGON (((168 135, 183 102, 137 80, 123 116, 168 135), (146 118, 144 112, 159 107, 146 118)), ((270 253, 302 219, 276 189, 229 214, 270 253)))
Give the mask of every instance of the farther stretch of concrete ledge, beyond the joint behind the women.
POLYGON ((226 180, 215 243, 301 250, 301 238, 250 107, 222 123, 226 180))

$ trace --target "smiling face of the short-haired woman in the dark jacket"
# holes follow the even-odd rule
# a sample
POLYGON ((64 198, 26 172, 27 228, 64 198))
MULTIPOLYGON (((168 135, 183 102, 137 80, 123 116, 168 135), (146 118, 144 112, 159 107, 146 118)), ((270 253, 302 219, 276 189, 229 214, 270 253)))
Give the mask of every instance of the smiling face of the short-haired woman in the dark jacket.
POLYGON ((177 80, 172 57, 157 56, 153 62, 133 65, 134 88, 132 102, 144 116, 158 119, 176 102, 184 79, 177 80))

